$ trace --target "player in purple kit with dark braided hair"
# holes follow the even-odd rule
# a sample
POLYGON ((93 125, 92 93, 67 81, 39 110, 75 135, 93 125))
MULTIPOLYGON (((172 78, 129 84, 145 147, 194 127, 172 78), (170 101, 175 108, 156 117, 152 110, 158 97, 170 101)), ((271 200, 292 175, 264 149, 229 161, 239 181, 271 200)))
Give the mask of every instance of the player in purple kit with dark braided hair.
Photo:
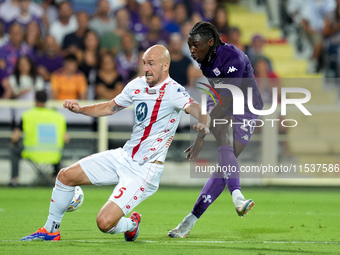
MULTIPOLYGON (((212 86, 216 82, 221 83, 221 81, 223 84, 235 85, 242 90, 245 102, 247 102, 247 88, 251 87, 253 106, 255 109, 262 109, 261 94, 247 55, 234 45, 222 42, 214 25, 203 21, 196 23, 189 33, 188 46, 191 57, 199 63, 204 76, 208 78, 212 86)), ((254 131, 254 126, 241 125, 241 123, 248 123, 248 121, 243 122, 244 119, 257 119, 257 115, 250 112, 247 104, 244 105, 244 115, 234 115, 231 92, 228 89, 221 89, 219 96, 221 102, 216 106, 210 97, 207 104, 208 109, 213 107, 210 111, 212 120, 226 119, 229 123, 228 125, 210 126, 218 144, 218 164, 221 168, 229 166, 237 171, 213 173, 204 185, 193 210, 176 228, 169 231, 169 237, 186 237, 196 221, 222 193, 225 186, 228 186, 239 216, 243 217, 255 205, 253 200, 246 200, 241 193, 237 157, 247 145, 254 131), (231 121, 239 124, 230 125, 231 121)), ((194 143, 185 151, 188 153, 189 160, 194 160, 197 157, 204 145, 204 136, 198 134, 194 143)))

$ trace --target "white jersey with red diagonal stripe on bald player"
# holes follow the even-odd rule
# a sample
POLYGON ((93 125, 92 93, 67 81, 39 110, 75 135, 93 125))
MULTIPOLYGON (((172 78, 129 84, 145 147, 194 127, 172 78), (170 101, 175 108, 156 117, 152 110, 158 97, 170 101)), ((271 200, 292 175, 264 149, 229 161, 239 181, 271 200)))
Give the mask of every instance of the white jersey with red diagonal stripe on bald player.
POLYGON ((145 76, 141 76, 129 82, 114 102, 122 107, 134 106, 131 139, 123 149, 134 161, 144 164, 154 160, 164 162, 182 111, 194 100, 170 77, 150 87, 145 76))

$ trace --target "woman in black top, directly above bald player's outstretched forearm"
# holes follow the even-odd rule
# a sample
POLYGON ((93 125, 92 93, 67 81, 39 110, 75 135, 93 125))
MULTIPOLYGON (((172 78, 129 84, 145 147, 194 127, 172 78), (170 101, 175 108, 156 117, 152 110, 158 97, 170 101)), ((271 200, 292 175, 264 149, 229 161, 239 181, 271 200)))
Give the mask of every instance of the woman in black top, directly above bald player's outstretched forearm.
POLYGON ((96 99, 111 100, 122 92, 123 88, 123 78, 116 70, 113 55, 103 54, 96 76, 96 99))

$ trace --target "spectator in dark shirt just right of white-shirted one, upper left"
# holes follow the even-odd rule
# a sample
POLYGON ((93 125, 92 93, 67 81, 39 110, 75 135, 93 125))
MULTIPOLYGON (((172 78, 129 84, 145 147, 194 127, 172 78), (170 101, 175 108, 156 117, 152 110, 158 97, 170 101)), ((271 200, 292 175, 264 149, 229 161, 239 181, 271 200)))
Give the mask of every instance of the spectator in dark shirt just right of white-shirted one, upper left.
POLYGON ((62 43, 62 50, 64 55, 66 54, 76 54, 77 51, 83 50, 84 45, 84 37, 86 34, 86 31, 88 30, 88 24, 89 24, 89 16, 86 12, 78 12, 77 14, 77 22, 78 22, 78 28, 75 32, 67 34, 64 37, 63 43, 62 43))

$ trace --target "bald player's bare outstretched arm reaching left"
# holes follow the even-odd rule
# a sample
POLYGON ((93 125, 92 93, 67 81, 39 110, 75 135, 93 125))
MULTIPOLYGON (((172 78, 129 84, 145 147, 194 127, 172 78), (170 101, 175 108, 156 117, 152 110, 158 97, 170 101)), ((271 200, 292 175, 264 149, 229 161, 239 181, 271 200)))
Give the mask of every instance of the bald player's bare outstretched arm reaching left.
POLYGON ((64 108, 67 108, 74 113, 81 113, 91 117, 108 116, 124 109, 124 107, 116 105, 114 100, 110 100, 103 103, 80 106, 78 101, 75 99, 65 100, 64 108))

